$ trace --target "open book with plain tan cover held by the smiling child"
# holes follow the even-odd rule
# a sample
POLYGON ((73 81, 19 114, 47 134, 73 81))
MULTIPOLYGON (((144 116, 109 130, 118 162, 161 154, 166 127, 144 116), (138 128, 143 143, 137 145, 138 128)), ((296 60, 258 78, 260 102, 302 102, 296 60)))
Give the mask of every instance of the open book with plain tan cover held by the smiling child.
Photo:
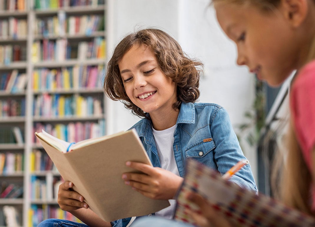
POLYGON ((145 197, 121 178, 124 172, 136 172, 126 161, 152 166, 135 129, 74 144, 45 131, 35 135, 60 175, 73 182, 73 189, 105 221, 142 216, 169 206, 167 200, 145 197))

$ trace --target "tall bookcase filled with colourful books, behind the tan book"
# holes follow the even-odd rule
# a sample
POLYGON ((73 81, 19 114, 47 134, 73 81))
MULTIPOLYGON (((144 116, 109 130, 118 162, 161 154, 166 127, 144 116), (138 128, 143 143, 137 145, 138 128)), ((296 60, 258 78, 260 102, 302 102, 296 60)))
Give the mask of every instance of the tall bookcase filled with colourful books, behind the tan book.
POLYGON ((0 227, 8 207, 17 226, 77 221, 58 206, 62 179, 34 132, 106 134, 106 11, 106 0, 0 0, 0 227))

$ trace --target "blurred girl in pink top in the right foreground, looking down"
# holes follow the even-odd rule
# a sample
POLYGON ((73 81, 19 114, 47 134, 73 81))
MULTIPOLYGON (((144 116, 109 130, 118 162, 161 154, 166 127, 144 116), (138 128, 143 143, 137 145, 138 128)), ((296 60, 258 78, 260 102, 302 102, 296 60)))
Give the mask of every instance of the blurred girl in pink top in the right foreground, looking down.
MULTIPOLYGON (((289 146, 285 159, 281 157, 279 194, 288 206, 315 217, 315 1, 213 0, 213 4, 221 28, 237 45, 238 65, 248 66, 272 86, 298 70, 290 92, 289 146)), ((202 211, 191 213, 198 225, 231 226, 201 196, 189 198, 202 211)), ((154 223, 183 226, 164 222, 154 223)))

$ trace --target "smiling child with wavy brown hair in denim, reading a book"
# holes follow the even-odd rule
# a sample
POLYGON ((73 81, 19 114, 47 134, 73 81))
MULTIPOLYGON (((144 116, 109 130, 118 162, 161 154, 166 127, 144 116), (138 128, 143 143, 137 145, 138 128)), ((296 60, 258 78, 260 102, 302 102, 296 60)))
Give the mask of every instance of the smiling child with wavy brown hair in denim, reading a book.
MULTIPOLYGON (((221 173, 244 159, 224 108, 194 103, 199 97, 198 67, 202 67, 200 61, 186 57, 180 45, 158 29, 127 35, 115 48, 107 66, 105 92, 143 118, 132 128, 137 130, 154 166, 128 161, 127 166, 143 174, 124 173, 122 180, 147 197, 170 200, 171 206, 156 212, 156 216, 173 217, 172 198, 185 175, 186 158, 197 159, 221 173)), ((249 165, 231 181, 257 190, 249 165)), ((88 205, 81 195, 70 190, 72 186, 71 182, 60 185, 58 204, 85 224, 127 226, 131 222, 131 218, 111 223, 101 220, 84 209, 88 205)), ((62 222, 46 220, 40 226, 59 226, 62 222)))

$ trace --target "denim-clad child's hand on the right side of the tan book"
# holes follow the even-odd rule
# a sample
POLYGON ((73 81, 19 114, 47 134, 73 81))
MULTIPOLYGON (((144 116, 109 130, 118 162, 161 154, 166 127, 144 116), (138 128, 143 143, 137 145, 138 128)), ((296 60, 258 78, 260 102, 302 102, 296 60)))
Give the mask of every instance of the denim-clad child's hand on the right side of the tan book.
POLYGON ((126 166, 143 173, 124 173, 125 184, 151 199, 172 199, 183 178, 159 167, 127 161, 126 166))

